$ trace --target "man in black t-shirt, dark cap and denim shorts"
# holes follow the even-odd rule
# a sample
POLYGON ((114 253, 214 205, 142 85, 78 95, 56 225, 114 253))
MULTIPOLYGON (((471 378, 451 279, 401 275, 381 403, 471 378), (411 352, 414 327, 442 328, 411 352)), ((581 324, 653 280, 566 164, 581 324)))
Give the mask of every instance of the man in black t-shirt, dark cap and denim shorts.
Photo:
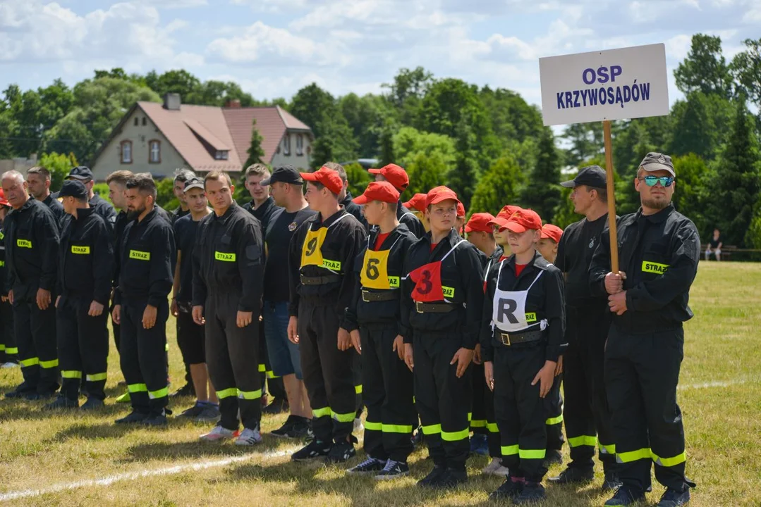
MULTIPOLYGON (((304 180, 294 166, 275 168, 262 185, 269 186, 277 208, 264 232, 267 259, 264 268, 264 336, 269 363, 275 375, 282 377, 291 414, 272 435, 295 438, 307 433, 312 410, 301 375, 298 344, 288 340, 288 246, 293 233, 315 212, 304 199, 304 180)), ((297 275, 298 276, 298 275, 297 275)))

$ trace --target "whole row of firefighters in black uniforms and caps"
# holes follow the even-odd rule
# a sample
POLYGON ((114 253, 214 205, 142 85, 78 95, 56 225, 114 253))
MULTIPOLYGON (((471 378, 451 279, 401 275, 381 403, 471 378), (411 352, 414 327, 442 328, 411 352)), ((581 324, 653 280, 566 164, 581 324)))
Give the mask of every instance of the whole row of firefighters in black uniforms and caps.
POLYGON ((272 434, 308 438, 293 461, 355 456, 364 404, 366 458, 348 474, 409 474, 418 429, 433 463, 419 486, 464 483, 482 445, 483 472, 505 477, 489 498, 536 502, 562 462, 565 422, 571 461, 550 483, 591 482, 597 447, 605 505, 644 499, 653 466, 658 505, 689 502, 676 391, 701 251, 671 203, 670 157, 639 166, 642 208, 616 217, 617 273, 598 166, 562 183, 584 215, 565 231, 512 205, 466 221, 445 186, 403 203, 402 167, 370 173, 352 198, 337 163, 257 164, 245 174, 253 201, 239 206, 228 174, 180 170, 171 214, 148 173, 109 176, 118 214, 87 167, 57 195, 44 168, 4 173, 0 353, 24 377, 6 398, 102 407, 110 315, 132 404, 116 423, 167 424, 172 314, 197 398, 181 415, 217 421, 202 440, 261 442, 271 368, 290 410, 272 434))

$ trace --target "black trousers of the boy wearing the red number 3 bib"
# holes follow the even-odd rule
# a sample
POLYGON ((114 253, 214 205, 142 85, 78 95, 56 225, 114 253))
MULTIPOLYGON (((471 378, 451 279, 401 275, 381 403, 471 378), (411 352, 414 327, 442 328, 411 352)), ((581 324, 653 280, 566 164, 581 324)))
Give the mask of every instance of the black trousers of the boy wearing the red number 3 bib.
POLYGON ((435 464, 465 470, 470 452, 470 368, 457 378, 452 356, 462 347, 459 334, 412 334, 415 398, 428 454, 435 464))

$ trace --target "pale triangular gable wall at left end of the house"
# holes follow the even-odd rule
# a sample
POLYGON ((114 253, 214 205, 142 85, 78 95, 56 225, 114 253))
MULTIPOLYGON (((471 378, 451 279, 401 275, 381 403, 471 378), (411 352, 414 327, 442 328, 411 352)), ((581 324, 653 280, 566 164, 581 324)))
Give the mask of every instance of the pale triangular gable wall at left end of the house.
POLYGON ((170 176, 178 167, 187 164, 167 138, 156 128, 151 119, 139 107, 132 112, 119 132, 100 153, 91 169, 97 181, 105 181, 114 171, 128 170, 132 173, 151 173, 154 176, 170 176), (135 125, 135 119, 137 125, 135 125), (122 159, 123 141, 132 142, 132 161, 122 159), (159 162, 151 161, 151 141, 158 141, 159 162))

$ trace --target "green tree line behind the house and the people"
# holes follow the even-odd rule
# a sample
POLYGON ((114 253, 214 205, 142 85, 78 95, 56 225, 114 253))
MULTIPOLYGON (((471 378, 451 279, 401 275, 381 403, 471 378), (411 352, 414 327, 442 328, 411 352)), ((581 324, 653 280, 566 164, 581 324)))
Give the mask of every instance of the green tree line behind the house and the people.
MULTIPOLYGON (((614 122, 619 214, 638 208, 632 179, 639 161, 662 151, 677 168, 675 205, 704 238, 718 227, 724 244, 761 248, 761 39, 744 45, 728 62, 718 36, 696 34, 674 71, 685 97, 670 114, 614 122)), ((0 159, 37 153, 62 167, 88 163, 135 101, 159 102, 167 92, 190 104, 282 106, 312 128, 315 167, 358 158, 395 162, 410 176, 404 197, 447 184, 469 213, 519 204, 565 227, 577 217, 569 191, 559 186, 571 177, 562 169, 604 167, 601 123, 569 125, 556 138, 540 109, 514 91, 436 78, 422 67, 400 69, 381 93, 334 97, 310 84, 290 100, 256 100, 234 82, 201 81, 184 70, 142 75, 113 68, 74 87, 56 80, 37 90, 11 84, 0 98, 0 159)), ((260 156, 252 146, 251 160, 260 156)), ((358 164, 348 171, 352 192, 361 192, 368 174, 358 164)))

